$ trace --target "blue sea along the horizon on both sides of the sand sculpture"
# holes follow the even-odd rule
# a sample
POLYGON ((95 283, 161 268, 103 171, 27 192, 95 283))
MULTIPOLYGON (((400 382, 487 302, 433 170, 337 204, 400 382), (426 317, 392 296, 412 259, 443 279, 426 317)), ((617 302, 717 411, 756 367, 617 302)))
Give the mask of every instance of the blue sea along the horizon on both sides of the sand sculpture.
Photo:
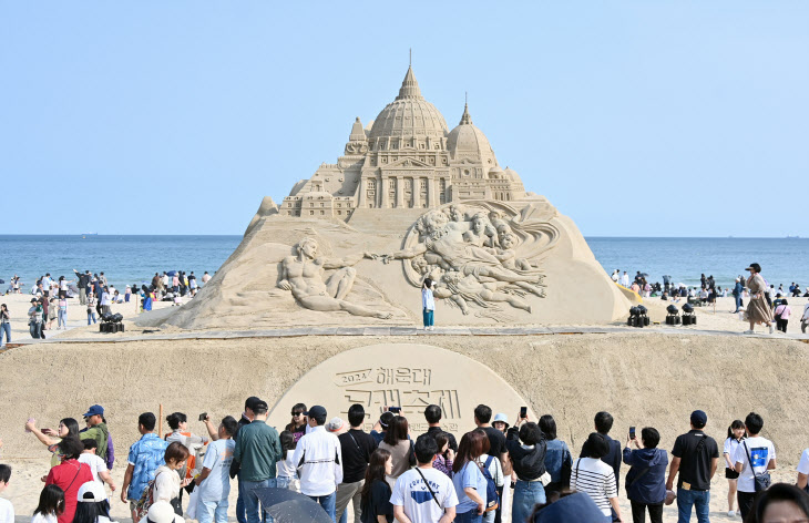
MULTIPOLYGON (((734 283, 751 263, 778 287, 792 281, 809 285, 809 238, 586 238, 595 258, 607 274, 619 269, 634 276, 647 274, 649 281, 687 286, 699 284, 702 274, 713 275, 717 285, 734 283)), ((201 278, 214 274, 242 242, 242 236, 117 236, 117 235, 0 235, 0 294, 13 275, 28 291, 45 273, 73 279, 73 269, 104 271, 122 289, 141 285, 154 273, 192 270, 201 278)))

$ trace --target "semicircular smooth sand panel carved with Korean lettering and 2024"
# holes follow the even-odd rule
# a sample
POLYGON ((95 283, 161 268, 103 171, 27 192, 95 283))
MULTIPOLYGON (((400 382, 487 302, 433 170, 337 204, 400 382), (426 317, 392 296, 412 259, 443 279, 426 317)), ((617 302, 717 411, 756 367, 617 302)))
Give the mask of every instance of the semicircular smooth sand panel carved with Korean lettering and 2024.
MULTIPOLYGON (((424 408, 441 407, 442 427, 460 437, 474 425, 474 408, 490 406, 512 417, 529 403, 489 367, 429 345, 381 343, 350 349, 309 370, 273 407, 269 424, 283 430, 295 403, 322 404, 329 418, 347 419, 348 408, 366 409, 370 430, 386 407, 401 408, 416 434, 427 431, 424 408)), ((529 409, 531 419, 536 419, 529 409)))

